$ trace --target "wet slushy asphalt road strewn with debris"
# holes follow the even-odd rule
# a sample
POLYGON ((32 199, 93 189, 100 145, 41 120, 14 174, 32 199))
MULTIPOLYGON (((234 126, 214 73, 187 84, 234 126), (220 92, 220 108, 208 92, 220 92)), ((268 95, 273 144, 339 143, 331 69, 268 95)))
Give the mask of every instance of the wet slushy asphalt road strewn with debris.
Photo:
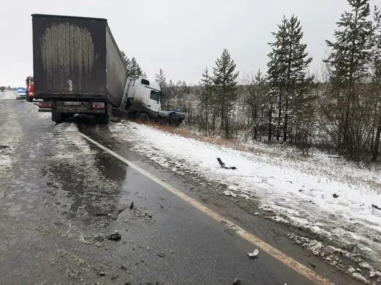
POLYGON ((0 115, 0 144, 11 147, 0 166, 0 284, 315 283, 261 249, 249 259, 256 244, 81 133, 332 283, 356 284, 292 244, 286 226, 250 214, 247 201, 134 153, 107 125, 55 124, 15 99, 0 100, 0 115), (94 239, 115 232, 119 241, 94 239))

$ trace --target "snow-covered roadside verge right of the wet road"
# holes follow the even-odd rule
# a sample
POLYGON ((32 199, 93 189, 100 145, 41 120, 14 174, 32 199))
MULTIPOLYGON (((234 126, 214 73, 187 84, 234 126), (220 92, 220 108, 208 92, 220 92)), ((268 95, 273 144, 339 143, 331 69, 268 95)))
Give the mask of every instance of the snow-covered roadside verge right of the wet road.
POLYGON ((371 207, 381 206, 377 172, 356 170, 342 162, 332 162, 335 169, 330 170, 322 155, 317 159, 323 164, 302 158, 299 164, 291 159, 287 163, 286 159, 267 156, 268 151, 239 151, 135 123, 114 123, 109 129, 114 138, 131 142, 133 150, 168 169, 197 172, 209 181, 225 184, 221 193, 227 196, 255 200, 262 210, 273 213, 273 220, 343 245, 357 244, 368 257, 379 259, 381 211, 371 207), (238 169, 221 168, 217 157, 238 169))

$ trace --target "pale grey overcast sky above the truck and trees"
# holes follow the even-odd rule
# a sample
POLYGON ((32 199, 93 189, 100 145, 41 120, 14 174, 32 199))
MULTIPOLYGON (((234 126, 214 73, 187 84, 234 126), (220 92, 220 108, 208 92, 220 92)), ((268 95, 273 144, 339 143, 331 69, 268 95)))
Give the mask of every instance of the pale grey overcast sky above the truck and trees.
MULTIPOLYGON (((379 1, 371 0, 371 5, 379 1)), ((31 14, 106 18, 119 49, 135 57, 148 78, 162 68, 167 81, 196 84, 205 67, 229 49, 237 69, 266 70, 267 43, 283 15, 296 15, 318 69, 346 0, 34 0, 2 2, 0 85, 24 86, 33 74, 31 14)))

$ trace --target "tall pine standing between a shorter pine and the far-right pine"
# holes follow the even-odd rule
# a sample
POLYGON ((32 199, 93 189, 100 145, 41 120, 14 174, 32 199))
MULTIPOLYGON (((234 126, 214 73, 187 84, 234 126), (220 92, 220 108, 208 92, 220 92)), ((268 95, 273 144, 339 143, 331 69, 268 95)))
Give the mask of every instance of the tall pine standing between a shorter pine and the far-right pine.
POLYGON ((311 79, 307 78, 307 68, 312 58, 308 58, 307 45, 301 44, 302 27, 295 16, 290 19, 283 18, 278 28, 277 33, 272 33, 276 41, 270 44, 273 49, 268 55, 270 62, 267 66, 270 85, 273 90, 277 90, 279 97, 277 140, 279 140, 283 109, 283 141, 286 142, 289 115, 294 111, 297 102, 303 100, 308 92, 306 87, 311 79))

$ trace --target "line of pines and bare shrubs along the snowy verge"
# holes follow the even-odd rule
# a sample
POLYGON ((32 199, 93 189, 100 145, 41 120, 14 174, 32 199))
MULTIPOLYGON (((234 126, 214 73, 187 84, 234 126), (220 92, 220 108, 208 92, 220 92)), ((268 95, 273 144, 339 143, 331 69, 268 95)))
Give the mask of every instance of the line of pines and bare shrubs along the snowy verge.
POLYGON ((164 108, 186 113, 186 123, 206 136, 287 142, 305 155, 311 146, 352 160, 375 161, 381 135, 381 13, 369 0, 347 0, 334 40, 321 62, 303 44, 296 16, 284 17, 269 43, 267 71, 239 72, 228 49, 200 83, 155 81, 166 95, 164 108))

